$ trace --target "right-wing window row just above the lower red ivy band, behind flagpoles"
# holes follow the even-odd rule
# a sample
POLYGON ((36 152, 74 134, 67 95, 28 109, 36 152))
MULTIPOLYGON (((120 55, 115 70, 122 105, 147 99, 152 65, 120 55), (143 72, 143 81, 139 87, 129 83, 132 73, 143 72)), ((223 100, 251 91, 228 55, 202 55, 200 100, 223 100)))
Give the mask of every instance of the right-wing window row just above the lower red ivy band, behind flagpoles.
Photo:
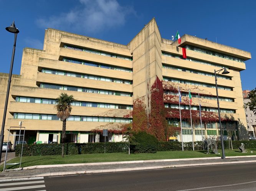
MULTIPOLYGON (((178 104, 164 104, 165 108, 179 108, 178 104)), ((180 105, 180 109, 189 109, 189 105, 180 105)), ((199 106, 191 106, 192 110, 198 110, 199 111, 199 106)), ((218 112, 218 108, 213 108, 213 107, 201 107, 201 111, 206 111, 206 112, 218 112)), ((220 109, 221 113, 235 113, 235 110, 232 109, 220 109)))

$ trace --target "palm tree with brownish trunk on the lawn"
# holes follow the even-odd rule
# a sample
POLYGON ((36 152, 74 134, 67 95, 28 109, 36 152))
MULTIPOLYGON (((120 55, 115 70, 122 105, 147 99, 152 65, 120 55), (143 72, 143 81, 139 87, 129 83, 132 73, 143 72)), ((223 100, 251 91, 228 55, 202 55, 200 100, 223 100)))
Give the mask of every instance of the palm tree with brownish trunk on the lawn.
POLYGON ((64 142, 66 139, 66 121, 70 116, 70 112, 72 110, 71 103, 74 102, 73 95, 68 95, 66 93, 61 93, 59 97, 56 99, 56 105, 54 108, 57 110, 58 118, 63 121, 62 123, 62 153, 61 157, 64 157, 64 142))

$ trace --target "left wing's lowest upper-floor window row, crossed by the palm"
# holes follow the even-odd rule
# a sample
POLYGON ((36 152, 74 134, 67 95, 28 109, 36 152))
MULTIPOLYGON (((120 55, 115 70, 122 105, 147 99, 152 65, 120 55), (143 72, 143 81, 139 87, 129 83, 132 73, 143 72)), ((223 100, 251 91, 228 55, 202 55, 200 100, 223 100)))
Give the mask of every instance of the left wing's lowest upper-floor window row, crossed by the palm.
MULTIPOLYGON (((36 120, 59 120, 57 115, 35 114, 35 113, 14 113, 15 119, 36 119, 36 120)), ((117 117, 89 117, 89 116, 69 116, 67 121, 93 121, 93 122, 116 122, 116 123, 130 123, 130 118, 117 117)))

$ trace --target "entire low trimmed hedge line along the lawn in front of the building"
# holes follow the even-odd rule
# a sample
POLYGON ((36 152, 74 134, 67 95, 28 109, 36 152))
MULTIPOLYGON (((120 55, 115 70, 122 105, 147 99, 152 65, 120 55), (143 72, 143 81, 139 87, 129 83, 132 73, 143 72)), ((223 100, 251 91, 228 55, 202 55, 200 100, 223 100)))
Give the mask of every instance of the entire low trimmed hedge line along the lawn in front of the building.
MULTIPOLYGON (((154 153, 156 151, 181 151, 182 143, 178 141, 173 142, 158 142, 155 144, 148 144, 144 140, 138 140, 139 144, 130 145, 131 152, 148 152, 154 153)), ((233 149, 238 149, 241 143, 244 143, 245 149, 256 149, 256 141, 232 141, 233 149)), ((218 149, 221 149, 220 141, 217 141, 218 149)), ((66 143, 64 146, 64 154, 91 154, 91 153, 104 153, 104 142, 88 142, 88 143, 66 143)), ((62 144, 25 144, 23 145, 23 156, 36 156, 36 155, 61 155, 62 144)), ((127 142, 106 142, 106 153, 115 152, 128 152, 127 142)), ((225 149, 228 149, 228 141, 224 141, 225 149)), ((203 142, 194 142, 195 150, 203 150, 203 142)), ((185 151, 192 151, 192 142, 183 142, 185 151)), ((21 144, 16 146, 15 156, 21 154, 21 144)))

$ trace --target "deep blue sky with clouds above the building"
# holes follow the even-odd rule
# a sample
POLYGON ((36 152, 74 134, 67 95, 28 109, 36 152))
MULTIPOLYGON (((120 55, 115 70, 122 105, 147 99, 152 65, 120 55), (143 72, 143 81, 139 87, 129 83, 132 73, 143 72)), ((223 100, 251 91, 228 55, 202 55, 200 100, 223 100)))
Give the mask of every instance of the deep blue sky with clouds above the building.
POLYGON ((46 28, 55 28, 127 44, 155 17, 161 36, 207 38, 251 52, 241 72, 243 89, 256 87, 256 1, 226 0, 0 0, 0 72, 9 73, 14 35, 5 31, 15 21, 20 30, 13 74, 20 73, 24 47, 43 49, 46 28))

